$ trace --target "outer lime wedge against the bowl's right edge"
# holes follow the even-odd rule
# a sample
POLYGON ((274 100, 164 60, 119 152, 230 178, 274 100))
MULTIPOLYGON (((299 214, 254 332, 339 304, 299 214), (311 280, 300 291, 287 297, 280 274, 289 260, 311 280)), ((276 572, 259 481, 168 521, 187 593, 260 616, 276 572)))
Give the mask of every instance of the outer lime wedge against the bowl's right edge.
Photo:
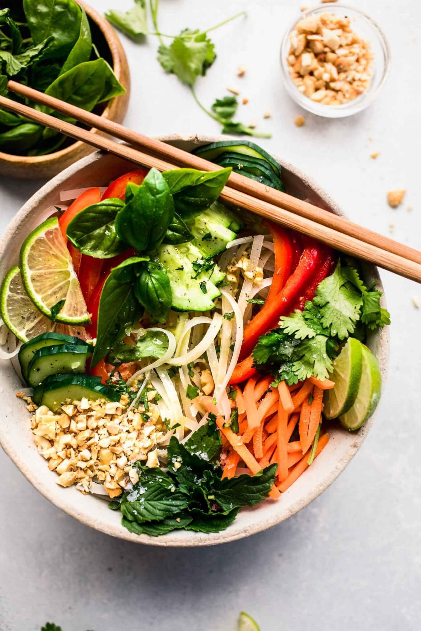
POLYGON ((367 346, 362 346, 362 375, 360 389, 352 408, 340 416, 347 430, 357 430, 374 414, 381 395, 381 372, 379 362, 367 346))

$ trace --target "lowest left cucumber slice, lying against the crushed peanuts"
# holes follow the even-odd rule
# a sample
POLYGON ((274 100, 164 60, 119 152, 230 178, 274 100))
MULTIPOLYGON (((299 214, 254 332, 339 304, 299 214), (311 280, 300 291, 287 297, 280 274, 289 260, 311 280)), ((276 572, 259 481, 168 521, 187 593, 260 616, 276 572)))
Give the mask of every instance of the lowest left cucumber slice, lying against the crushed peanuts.
POLYGON ((67 375, 68 379, 51 382, 44 387, 40 405, 46 405, 53 412, 59 412, 66 399, 81 401, 83 397, 89 401, 119 401, 120 394, 92 379, 91 375, 67 375))

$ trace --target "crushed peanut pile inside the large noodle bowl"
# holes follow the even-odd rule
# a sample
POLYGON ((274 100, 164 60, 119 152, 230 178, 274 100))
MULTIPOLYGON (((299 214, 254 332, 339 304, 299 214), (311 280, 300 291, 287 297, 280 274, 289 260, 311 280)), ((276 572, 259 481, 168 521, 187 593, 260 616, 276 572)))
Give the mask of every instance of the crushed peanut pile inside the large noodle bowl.
MULTIPOLYGON (((148 400, 155 395, 148 392, 148 400)), ((158 444, 167 429, 156 404, 148 404, 147 414, 140 403, 125 413, 129 403, 125 394, 119 402, 68 399, 62 413, 55 415, 45 405, 37 408, 30 398, 25 400, 28 410, 35 411, 31 418, 35 444, 62 487, 76 484, 86 493, 97 481, 113 498, 138 481, 132 463, 140 460, 149 467, 159 466, 158 444)))

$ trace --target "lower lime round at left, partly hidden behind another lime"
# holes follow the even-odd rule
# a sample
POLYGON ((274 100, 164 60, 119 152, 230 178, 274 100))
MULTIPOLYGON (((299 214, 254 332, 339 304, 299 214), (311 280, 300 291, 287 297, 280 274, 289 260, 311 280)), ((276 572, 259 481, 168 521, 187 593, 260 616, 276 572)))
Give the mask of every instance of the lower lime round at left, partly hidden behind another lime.
POLYGON ((17 265, 9 269, 0 289, 1 317, 8 329, 23 342, 41 333, 64 333, 85 339, 83 327, 66 326, 51 322, 43 315, 25 292, 20 269, 17 265))

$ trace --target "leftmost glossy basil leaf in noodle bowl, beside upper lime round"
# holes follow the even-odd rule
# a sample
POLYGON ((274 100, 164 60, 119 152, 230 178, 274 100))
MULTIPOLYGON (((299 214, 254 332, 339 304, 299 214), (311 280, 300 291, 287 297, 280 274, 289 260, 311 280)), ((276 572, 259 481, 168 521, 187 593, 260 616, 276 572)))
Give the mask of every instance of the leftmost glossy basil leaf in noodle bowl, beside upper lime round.
POLYGON ((110 259, 124 252, 127 245, 114 227, 114 220, 123 206, 121 199, 110 198, 81 210, 66 230, 74 247, 97 259, 110 259))

